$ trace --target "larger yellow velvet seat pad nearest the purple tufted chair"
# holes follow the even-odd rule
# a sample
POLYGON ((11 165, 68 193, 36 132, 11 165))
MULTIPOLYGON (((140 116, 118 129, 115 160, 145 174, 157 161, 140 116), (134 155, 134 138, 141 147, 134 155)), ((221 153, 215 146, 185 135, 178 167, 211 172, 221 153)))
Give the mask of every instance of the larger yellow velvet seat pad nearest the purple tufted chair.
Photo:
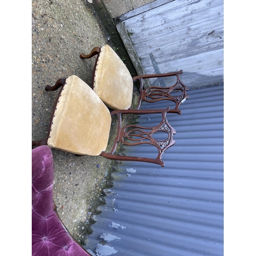
POLYGON ((110 126, 108 108, 87 83, 73 75, 58 98, 47 144, 77 155, 98 156, 108 145, 110 126))

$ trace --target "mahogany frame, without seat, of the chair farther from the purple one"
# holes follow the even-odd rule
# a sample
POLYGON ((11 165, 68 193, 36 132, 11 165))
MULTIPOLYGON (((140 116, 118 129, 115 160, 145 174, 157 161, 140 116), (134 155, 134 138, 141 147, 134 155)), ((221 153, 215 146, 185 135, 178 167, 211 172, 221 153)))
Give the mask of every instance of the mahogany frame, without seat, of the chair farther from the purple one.
MULTIPOLYGON (((81 53, 79 55, 79 57, 81 59, 92 58, 93 56, 97 55, 95 65, 94 65, 94 70, 93 70, 93 77, 95 77, 95 71, 97 69, 97 62, 98 62, 98 58, 100 56, 100 52, 101 52, 100 47, 94 47, 90 54, 85 55, 85 54, 81 53)), ((186 93, 188 91, 188 87, 185 86, 185 84, 180 79, 180 75, 182 73, 183 73, 183 71, 180 70, 177 72, 171 72, 171 73, 165 73, 165 74, 138 75, 138 76, 133 77, 133 82, 136 82, 136 81, 140 82, 139 101, 138 101, 138 104, 135 109, 138 110, 140 108, 142 101, 153 103, 153 102, 157 102, 157 101, 161 101, 161 100, 170 100, 170 101, 175 102, 175 108, 172 109, 172 111, 174 111, 174 112, 168 112, 168 113, 177 113, 180 115, 181 110, 179 110, 179 106, 182 102, 184 102, 188 98, 188 95, 186 93), (176 76, 177 77, 177 81, 173 86, 144 88, 143 79, 168 77, 168 76, 176 76), (181 91, 182 94, 180 94, 178 96, 170 95, 171 92, 175 92, 175 91, 181 91)), ((91 84, 92 89, 94 89, 94 82, 95 81, 93 80, 92 84, 91 84)))

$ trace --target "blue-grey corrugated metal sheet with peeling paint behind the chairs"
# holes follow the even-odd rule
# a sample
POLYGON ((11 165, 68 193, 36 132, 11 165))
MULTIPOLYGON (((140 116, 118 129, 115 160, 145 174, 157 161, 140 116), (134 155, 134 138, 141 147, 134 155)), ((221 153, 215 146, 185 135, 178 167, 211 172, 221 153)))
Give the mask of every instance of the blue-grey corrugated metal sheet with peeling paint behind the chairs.
MULTIPOLYGON (((118 238, 106 242, 114 255, 223 255, 223 84, 188 92, 182 114, 168 115, 177 134, 163 155, 165 167, 119 166, 86 249, 94 251, 105 233, 118 238), (126 171, 131 168, 136 172, 126 171)), ((156 119, 138 121, 148 125, 156 119)), ((155 154, 151 146, 139 153, 135 146, 126 148, 155 154)))

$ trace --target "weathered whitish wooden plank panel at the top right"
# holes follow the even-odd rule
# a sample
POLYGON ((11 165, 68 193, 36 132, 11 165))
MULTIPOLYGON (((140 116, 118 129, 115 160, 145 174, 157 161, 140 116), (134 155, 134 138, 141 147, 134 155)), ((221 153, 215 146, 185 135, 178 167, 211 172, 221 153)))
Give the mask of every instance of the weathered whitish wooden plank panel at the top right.
POLYGON ((160 73, 182 69, 191 87, 223 82, 223 0, 166 2, 131 11, 117 24, 138 74, 156 73, 152 55, 160 73))

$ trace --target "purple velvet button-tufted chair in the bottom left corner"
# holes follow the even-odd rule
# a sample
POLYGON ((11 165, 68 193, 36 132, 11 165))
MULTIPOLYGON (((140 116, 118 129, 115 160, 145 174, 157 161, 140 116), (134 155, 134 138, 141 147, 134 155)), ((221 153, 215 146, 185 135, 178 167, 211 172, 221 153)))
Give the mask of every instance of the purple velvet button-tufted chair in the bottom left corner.
POLYGON ((53 202, 51 148, 32 150, 32 256, 87 256, 60 220, 53 202))

